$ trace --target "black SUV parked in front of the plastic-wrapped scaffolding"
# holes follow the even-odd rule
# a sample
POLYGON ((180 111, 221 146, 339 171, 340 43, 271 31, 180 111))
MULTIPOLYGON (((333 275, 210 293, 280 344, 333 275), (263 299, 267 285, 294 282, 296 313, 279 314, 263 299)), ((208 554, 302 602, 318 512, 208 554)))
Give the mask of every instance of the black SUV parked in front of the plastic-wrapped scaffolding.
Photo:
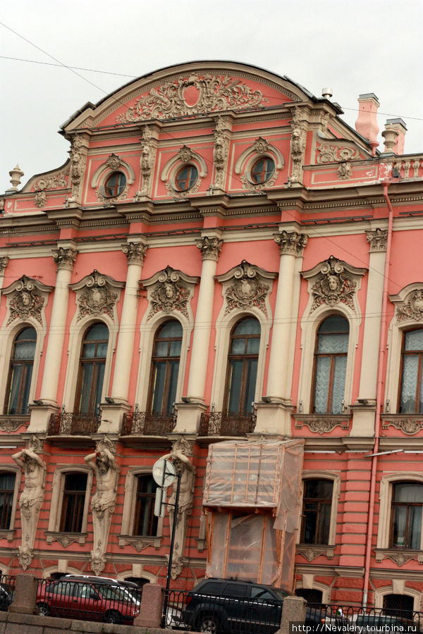
MULTIPOLYGON (((281 626, 283 599, 289 595, 292 592, 262 583, 204 579, 188 592, 181 621, 209 634, 272 634, 281 626)), ((313 616, 307 609, 306 624, 314 625, 313 616)))

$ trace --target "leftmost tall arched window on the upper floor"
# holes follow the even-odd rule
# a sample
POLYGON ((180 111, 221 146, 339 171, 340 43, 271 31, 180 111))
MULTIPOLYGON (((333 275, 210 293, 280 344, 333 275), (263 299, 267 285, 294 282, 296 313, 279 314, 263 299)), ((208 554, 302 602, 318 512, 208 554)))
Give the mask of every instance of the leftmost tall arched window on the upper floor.
POLYGON ((27 414, 36 343, 34 328, 23 328, 13 340, 5 414, 27 414))

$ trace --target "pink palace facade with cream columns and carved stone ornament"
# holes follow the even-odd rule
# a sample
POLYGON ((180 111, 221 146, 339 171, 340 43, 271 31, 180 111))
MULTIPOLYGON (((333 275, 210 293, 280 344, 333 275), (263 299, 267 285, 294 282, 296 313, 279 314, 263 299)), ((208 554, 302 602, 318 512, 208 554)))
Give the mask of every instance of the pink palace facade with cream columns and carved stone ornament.
MULTIPOLYGON (((403 154, 401 120, 377 149, 378 106, 360 95, 353 130, 286 77, 188 63, 81 108, 60 168, 21 189, 12 170, 3 573, 165 583, 152 466, 170 454, 183 483, 173 587, 204 578, 219 549, 219 570, 238 561, 250 578, 216 533, 224 509, 204 504, 210 447, 298 440, 298 486, 278 483, 295 567, 278 583, 421 609, 423 155, 403 154)), ((277 516, 230 506, 243 535, 277 516)))

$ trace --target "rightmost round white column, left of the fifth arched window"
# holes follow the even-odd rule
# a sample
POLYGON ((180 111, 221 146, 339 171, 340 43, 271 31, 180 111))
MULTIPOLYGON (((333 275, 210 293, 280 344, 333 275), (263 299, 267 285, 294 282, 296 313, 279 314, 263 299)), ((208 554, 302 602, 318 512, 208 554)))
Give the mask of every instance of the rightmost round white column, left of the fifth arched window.
POLYGON ((280 235, 275 237, 275 242, 279 244, 281 249, 281 262, 266 394, 270 398, 288 401, 291 385, 291 375, 288 377, 288 373, 292 374, 292 368, 288 367, 288 361, 291 356, 295 258, 302 254, 307 244, 307 235, 282 231, 280 235))

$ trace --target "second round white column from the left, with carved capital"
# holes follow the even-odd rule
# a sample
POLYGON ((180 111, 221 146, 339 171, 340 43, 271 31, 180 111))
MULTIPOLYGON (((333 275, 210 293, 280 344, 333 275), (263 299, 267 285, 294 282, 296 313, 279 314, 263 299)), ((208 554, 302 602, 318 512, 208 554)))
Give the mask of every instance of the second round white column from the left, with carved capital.
POLYGON ((128 402, 128 387, 135 340, 135 321, 137 318, 138 282, 141 277, 147 245, 142 242, 128 242, 123 253, 128 258, 125 296, 123 297, 121 325, 114 369, 111 397, 114 401, 128 402))

